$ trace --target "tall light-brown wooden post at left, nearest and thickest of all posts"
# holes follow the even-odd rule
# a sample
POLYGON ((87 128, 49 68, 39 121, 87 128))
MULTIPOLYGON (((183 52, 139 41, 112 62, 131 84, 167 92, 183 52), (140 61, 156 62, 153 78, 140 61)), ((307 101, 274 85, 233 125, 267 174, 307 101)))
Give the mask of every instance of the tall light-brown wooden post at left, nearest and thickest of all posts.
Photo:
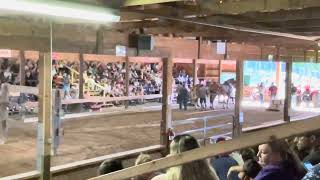
POLYGON ((51 179, 51 123, 52 123, 52 60, 51 54, 40 53, 39 121, 38 121, 38 170, 41 180, 51 179), (40 159, 39 159, 40 158, 40 159))

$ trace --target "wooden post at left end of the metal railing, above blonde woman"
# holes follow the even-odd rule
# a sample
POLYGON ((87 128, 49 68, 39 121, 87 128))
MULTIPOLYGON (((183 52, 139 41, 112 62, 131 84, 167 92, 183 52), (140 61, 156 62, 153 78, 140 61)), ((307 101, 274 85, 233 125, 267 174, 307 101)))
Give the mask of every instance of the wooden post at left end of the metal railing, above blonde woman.
POLYGON ((169 145, 168 130, 171 128, 171 94, 172 94, 172 58, 163 59, 163 87, 162 87, 162 120, 160 124, 160 144, 169 145))

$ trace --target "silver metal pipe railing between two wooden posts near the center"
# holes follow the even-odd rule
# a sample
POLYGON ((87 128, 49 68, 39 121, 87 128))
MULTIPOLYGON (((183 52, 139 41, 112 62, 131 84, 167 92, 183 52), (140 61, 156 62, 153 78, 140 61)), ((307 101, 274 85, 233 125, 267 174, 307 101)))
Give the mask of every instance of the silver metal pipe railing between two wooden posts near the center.
POLYGON ((216 128, 221 128, 225 126, 232 126, 232 123, 227 123, 227 124, 220 124, 220 125, 214 125, 214 126, 208 126, 208 121, 220 118, 220 117, 232 117, 234 119, 234 113, 225 113, 225 114, 217 114, 217 115, 212 115, 212 116, 202 116, 202 117, 196 117, 196 118, 189 118, 186 120, 178 120, 178 121, 173 121, 172 126, 179 126, 179 125, 186 125, 186 124, 193 124, 196 121, 203 121, 203 128, 197 128, 197 129, 192 129, 188 131, 184 131, 181 133, 176 133, 176 135, 182 135, 182 134, 192 134, 196 132, 202 132, 203 133, 203 140, 207 140, 207 131, 211 129, 216 129, 216 128))

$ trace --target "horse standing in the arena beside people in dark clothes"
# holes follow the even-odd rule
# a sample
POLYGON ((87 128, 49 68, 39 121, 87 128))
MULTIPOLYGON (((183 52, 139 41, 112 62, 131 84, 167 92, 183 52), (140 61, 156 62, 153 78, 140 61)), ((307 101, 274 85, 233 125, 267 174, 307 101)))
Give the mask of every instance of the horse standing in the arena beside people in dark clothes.
POLYGON ((210 92, 210 106, 213 108, 213 102, 215 97, 227 96, 227 99, 223 100, 223 108, 228 109, 229 99, 233 98, 236 81, 234 79, 228 79, 223 84, 213 83, 209 87, 210 92))

